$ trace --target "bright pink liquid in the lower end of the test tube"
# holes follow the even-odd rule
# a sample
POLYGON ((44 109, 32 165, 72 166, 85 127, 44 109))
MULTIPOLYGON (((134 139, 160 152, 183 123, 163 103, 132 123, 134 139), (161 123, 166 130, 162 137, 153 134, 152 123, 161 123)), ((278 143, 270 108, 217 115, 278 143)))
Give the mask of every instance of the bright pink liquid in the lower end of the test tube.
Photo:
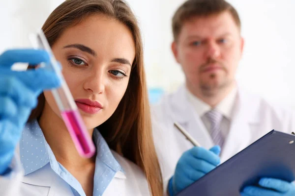
POLYGON ((84 126, 83 120, 78 110, 68 110, 61 112, 61 117, 72 137, 75 146, 82 156, 90 158, 95 152, 87 128, 84 126))

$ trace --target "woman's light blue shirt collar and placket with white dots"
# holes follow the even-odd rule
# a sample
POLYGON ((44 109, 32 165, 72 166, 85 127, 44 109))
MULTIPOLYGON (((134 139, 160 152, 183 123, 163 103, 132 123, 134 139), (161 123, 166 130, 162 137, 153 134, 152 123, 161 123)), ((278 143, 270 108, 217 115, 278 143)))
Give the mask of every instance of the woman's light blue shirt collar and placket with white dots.
MULTIPOLYGON (((97 151, 93 196, 98 196, 103 194, 117 173, 123 178, 125 178, 125 174, 97 129, 94 129, 92 138, 97 151)), ((24 128, 20 142, 20 158, 25 175, 35 172, 49 163, 51 169, 73 188, 75 195, 76 193, 79 193, 80 196, 85 195, 80 183, 56 160, 36 120, 27 123, 24 128)))

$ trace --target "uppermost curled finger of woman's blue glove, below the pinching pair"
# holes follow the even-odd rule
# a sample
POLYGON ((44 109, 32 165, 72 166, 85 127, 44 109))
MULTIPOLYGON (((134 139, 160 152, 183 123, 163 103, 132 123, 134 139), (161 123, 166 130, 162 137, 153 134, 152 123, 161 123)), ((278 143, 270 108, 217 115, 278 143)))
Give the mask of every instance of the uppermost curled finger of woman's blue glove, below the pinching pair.
POLYGON ((0 77, 0 84, 1 97, 12 98, 16 105, 24 105, 28 107, 36 106, 37 95, 33 91, 31 91, 26 85, 24 85, 24 83, 21 82, 17 77, 10 75, 2 76, 0 77))

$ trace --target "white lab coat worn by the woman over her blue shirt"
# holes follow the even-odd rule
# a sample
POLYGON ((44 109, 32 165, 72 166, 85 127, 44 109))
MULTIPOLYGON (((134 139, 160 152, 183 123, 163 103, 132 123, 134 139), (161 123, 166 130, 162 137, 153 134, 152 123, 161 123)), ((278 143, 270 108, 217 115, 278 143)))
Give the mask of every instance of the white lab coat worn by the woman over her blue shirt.
MULTIPOLYGON (((114 157, 123 168, 117 172, 103 196, 149 196, 148 181, 142 170, 112 151, 114 157)), ((19 154, 14 160, 20 163, 19 154)), ((21 175, 19 165, 16 175, 11 178, 0 177, 1 196, 74 196, 70 186, 63 181, 47 164, 36 172, 21 175)))

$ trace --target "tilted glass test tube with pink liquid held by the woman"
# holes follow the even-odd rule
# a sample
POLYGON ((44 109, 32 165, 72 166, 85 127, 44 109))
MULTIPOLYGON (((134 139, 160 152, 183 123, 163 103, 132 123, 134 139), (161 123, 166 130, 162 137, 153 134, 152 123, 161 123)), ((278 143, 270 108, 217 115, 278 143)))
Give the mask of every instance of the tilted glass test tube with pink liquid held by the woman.
POLYGON ((95 153, 95 146, 43 31, 40 30, 37 33, 31 34, 29 38, 35 49, 44 49, 49 53, 50 63, 42 66, 44 67, 43 69, 56 72, 61 80, 61 86, 58 89, 52 89, 51 92, 78 153, 86 158, 93 156, 95 153))

